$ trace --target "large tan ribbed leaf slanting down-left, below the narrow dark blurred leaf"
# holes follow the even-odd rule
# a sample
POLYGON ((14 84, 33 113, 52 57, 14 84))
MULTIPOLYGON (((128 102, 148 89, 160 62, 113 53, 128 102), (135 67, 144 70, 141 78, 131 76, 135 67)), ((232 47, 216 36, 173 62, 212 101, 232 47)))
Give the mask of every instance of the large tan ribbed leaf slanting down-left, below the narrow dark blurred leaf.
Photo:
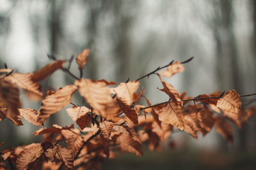
POLYGON ((72 94, 74 94, 76 90, 77 87, 75 85, 67 85, 56 92, 49 92, 42 101, 42 106, 38 111, 39 122, 45 122, 52 114, 60 111, 64 106, 69 104, 72 94))

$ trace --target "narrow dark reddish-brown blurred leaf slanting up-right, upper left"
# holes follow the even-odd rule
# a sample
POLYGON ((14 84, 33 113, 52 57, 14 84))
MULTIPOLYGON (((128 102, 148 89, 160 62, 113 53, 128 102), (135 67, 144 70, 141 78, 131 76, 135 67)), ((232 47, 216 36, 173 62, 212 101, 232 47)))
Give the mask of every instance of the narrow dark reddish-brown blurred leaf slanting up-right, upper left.
POLYGON ((35 82, 44 80, 45 78, 47 78, 47 76, 51 75, 57 69, 61 69, 64 63, 64 60, 56 60, 51 64, 47 64, 46 66, 38 69, 38 71, 33 74, 32 80, 35 82))

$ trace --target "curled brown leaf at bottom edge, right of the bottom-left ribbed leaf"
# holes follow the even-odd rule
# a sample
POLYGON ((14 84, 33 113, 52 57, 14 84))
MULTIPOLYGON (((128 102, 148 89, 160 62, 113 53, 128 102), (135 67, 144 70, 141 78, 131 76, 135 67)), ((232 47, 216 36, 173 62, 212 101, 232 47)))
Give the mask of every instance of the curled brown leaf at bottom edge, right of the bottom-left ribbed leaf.
POLYGON ((44 152, 44 154, 52 162, 55 162, 56 160, 61 160, 68 168, 74 168, 74 155, 72 153, 72 150, 68 150, 67 148, 63 148, 62 146, 57 144, 54 145, 53 148, 48 148, 44 152))

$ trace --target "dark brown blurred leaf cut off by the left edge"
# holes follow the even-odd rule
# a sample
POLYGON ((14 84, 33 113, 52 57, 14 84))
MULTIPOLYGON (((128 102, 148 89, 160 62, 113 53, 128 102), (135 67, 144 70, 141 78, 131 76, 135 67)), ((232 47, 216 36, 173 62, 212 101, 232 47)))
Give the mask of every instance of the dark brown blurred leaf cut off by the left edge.
POLYGON ((10 81, 9 76, 0 80, 0 108, 2 118, 12 120, 15 125, 22 125, 18 108, 20 108, 20 92, 17 85, 10 81))

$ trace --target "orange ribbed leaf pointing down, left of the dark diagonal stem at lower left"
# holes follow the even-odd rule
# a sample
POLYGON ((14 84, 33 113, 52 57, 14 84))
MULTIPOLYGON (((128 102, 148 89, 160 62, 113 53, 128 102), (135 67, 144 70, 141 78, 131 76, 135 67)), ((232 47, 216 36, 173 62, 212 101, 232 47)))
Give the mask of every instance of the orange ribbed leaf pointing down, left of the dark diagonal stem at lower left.
POLYGON ((77 151, 83 146, 83 138, 79 135, 79 129, 62 130, 61 134, 65 137, 68 149, 72 150, 75 155, 77 151))

